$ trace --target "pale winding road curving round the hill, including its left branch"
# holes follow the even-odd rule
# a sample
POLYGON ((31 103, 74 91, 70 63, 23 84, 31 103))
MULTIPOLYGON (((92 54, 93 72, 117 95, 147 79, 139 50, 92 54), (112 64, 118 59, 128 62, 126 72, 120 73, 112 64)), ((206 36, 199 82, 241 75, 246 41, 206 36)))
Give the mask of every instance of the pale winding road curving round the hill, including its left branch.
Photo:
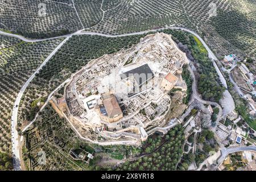
MULTIPOLYGON (((188 30, 187 28, 165 27, 165 28, 158 28, 158 29, 154 29, 154 30, 147 30, 147 31, 141 31, 141 32, 133 32, 133 33, 122 34, 122 35, 108 35, 108 34, 100 34, 100 33, 96 33, 96 32, 84 32, 83 30, 79 30, 79 31, 77 31, 73 34, 68 34, 68 35, 63 35, 63 36, 56 36, 54 38, 48 38, 48 39, 27 39, 27 38, 24 38, 21 35, 10 34, 10 33, 7 33, 7 32, 0 31, 0 35, 11 36, 11 37, 23 40, 24 42, 30 42, 30 43, 32 43, 32 42, 42 42, 42 41, 45 41, 45 40, 52 40, 52 39, 64 38, 65 37, 65 40, 63 40, 63 42, 61 42, 59 44, 59 46, 57 46, 55 48, 55 50, 47 57, 47 59, 44 60, 42 65, 40 65, 40 67, 38 69, 36 69, 36 71, 30 76, 30 78, 28 78, 28 80, 22 86, 22 89, 20 89, 20 91, 18 93, 18 96, 16 97, 15 104, 14 104, 14 107, 13 107, 12 116, 11 116, 11 140, 13 142, 12 151, 13 151, 13 156, 14 156, 14 169, 15 170, 20 169, 19 137, 18 137, 18 131, 16 130, 16 126, 17 126, 17 123, 18 123, 18 109, 19 109, 20 100, 21 100, 21 98, 23 96, 23 93, 26 90, 27 86, 34 79, 36 73, 39 73, 40 69, 42 69, 42 67, 51 59, 51 57, 53 55, 55 55, 55 53, 60 49, 60 47, 63 46, 63 44, 65 42, 67 42, 67 40, 69 38, 71 38, 71 36, 73 36, 73 35, 98 35, 98 36, 105 36, 105 37, 109 37, 109 38, 117 38, 117 37, 123 37, 123 36, 131 36, 131 35, 142 35, 142 34, 146 34, 148 32, 156 32, 156 31, 167 30, 167 29, 182 30, 182 31, 186 31, 186 32, 189 32, 189 33, 195 35, 201 41, 201 43, 203 43, 204 47, 207 49, 209 58, 213 61, 214 68, 216 68, 216 71, 217 71, 217 73, 220 77, 220 80, 221 80, 222 84, 227 88, 226 80, 225 80, 224 76, 222 75, 222 73, 220 72, 220 69, 218 69, 218 67, 217 67, 217 65, 214 61, 214 60, 217 60, 217 57, 214 55, 214 53, 210 50, 210 48, 207 46, 207 44, 204 42, 204 40, 201 39, 200 36, 196 32, 188 30)), ((193 92, 196 90, 196 87, 195 88, 194 87, 195 87, 195 84, 193 86, 193 92)), ((229 101, 228 101, 229 105, 234 105, 233 98, 231 97, 228 90, 225 91, 225 94, 228 96, 228 97, 226 97, 226 96, 224 96, 224 97, 229 99, 229 101)), ((196 94, 195 94, 195 98, 197 100, 199 100, 200 102, 203 102, 205 104, 216 105, 217 107, 220 108, 220 106, 216 102, 203 101, 203 100, 201 100, 200 97, 197 97, 196 94)), ((225 105, 224 105, 224 110, 225 110, 225 105)), ((230 109, 227 109, 227 110, 229 111, 230 109)), ((226 113, 224 113, 224 114, 227 114, 228 111, 226 111, 226 113)), ((220 113, 221 113, 221 108, 220 108, 220 113)), ((218 118, 219 117, 220 116, 218 116, 218 118)))

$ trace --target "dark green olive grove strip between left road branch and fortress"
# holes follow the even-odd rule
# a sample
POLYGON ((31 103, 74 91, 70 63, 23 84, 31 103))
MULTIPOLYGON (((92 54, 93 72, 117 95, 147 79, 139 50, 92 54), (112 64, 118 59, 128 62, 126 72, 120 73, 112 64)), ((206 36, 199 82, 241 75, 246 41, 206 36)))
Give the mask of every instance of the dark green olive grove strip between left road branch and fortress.
POLYGON ((58 85, 86 65, 88 61, 104 54, 129 48, 137 44, 143 35, 129 36, 128 38, 105 38, 101 36, 73 36, 60 50, 48 61, 39 75, 28 86, 19 107, 20 124, 32 121, 39 110, 35 104, 46 100, 58 85))

